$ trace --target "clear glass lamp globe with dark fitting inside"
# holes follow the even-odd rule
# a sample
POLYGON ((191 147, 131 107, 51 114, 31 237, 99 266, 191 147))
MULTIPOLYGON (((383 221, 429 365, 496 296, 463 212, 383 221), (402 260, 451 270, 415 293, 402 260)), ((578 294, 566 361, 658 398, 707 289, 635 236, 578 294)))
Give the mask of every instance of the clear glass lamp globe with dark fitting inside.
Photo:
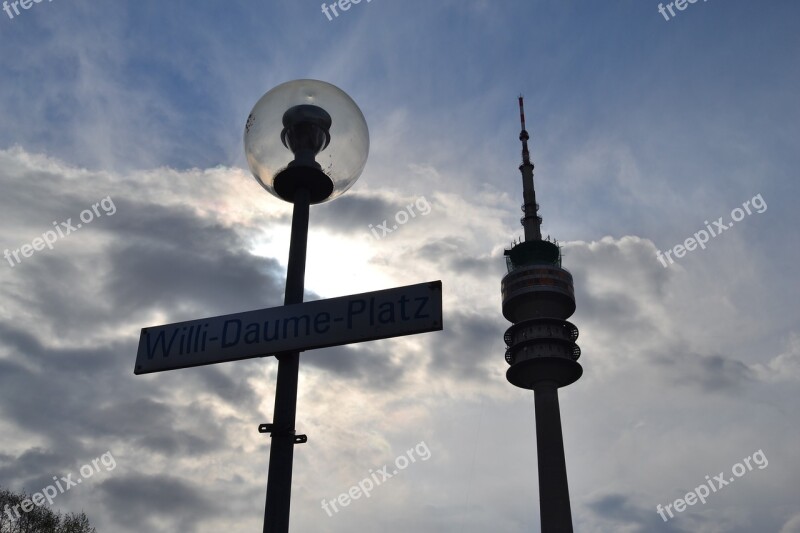
POLYGON ((333 200, 361 175, 369 153, 367 121, 341 89, 318 80, 278 85, 256 102, 244 130, 250 171, 270 194, 293 202, 333 200))

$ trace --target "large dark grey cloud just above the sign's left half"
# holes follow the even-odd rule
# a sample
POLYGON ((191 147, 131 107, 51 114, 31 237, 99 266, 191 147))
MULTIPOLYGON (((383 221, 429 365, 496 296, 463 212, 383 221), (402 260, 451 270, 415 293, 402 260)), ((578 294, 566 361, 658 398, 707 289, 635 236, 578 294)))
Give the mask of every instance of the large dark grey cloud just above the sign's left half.
POLYGON ((59 332, 136 323, 155 310, 178 321, 281 305, 277 261, 246 252, 233 230, 182 207, 115 203, 114 216, 68 237, 78 246, 102 237, 107 246, 29 258, 10 271, 18 289, 2 289, 6 305, 58 316, 51 326, 59 332))

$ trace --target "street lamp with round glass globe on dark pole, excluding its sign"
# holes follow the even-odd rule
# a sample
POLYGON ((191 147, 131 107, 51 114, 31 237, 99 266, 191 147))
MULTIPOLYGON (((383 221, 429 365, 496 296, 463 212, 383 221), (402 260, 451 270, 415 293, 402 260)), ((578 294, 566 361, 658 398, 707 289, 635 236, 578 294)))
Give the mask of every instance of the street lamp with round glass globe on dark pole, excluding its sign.
MULTIPOLYGON (((270 90, 253 107, 244 132, 253 176, 274 196, 294 204, 284 305, 302 303, 311 204, 349 189, 367 162, 369 131, 364 115, 338 87, 294 80, 270 90)), ((272 424, 262 424, 272 445, 264 533, 288 533, 300 353, 277 354, 278 376, 272 424)))

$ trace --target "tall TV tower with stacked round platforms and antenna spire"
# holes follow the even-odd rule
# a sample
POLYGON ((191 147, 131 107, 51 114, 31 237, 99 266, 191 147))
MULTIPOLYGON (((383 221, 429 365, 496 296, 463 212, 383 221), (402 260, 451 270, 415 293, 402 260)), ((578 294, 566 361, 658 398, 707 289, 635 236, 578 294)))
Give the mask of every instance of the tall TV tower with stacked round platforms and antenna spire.
POLYGON ((522 131, 522 211, 525 240, 505 251, 508 273, 501 282, 503 316, 513 323, 505 333, 506 379, 534 391, 539 506, 542 533, 572 532, 567 465, 561 435, 558 388, 583 374, 575 344, 578 328, 566 319, 575 312, 572 274, 561 267, 558 242, 542 239, 542 217, 533 189, 525 110, 519 97, 522 131))

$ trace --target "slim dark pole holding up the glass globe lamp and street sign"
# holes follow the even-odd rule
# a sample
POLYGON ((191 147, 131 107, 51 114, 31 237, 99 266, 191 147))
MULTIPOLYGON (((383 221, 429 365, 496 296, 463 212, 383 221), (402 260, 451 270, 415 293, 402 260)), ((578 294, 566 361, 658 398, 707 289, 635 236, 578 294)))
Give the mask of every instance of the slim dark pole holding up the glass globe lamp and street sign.
MULTIPOLYGON (((286 269, 284 305, 303 302, 309 204, 308 189, 298 189, 295 193, 292 213, 292 237, 289 244, 289 265, 286 269)), ((278 355, 275 412, 267 478, 267 504, 264 509, 264 533, 289 532, 299 366, 300 352, 285 352, 278 355)))

